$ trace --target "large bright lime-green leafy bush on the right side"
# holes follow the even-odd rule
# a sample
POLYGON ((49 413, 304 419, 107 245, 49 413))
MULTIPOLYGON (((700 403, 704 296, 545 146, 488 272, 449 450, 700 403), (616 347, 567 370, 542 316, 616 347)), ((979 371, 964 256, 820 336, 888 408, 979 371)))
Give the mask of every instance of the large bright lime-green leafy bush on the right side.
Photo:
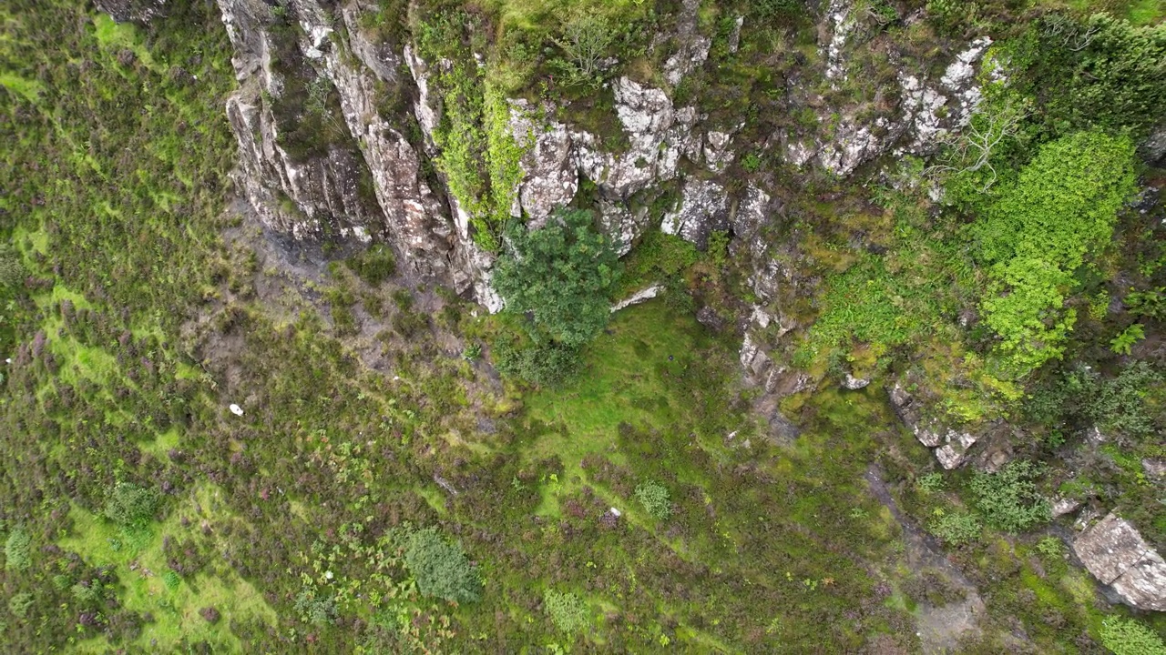
POLYGON ((1005 371, 1024 376, 1061 355, 1075 314, 1073 273, 1109 242, 1135 189, 1128 139, 1081 132, 1046 145, 970 230, 989 265, 984 322, 1005 371))

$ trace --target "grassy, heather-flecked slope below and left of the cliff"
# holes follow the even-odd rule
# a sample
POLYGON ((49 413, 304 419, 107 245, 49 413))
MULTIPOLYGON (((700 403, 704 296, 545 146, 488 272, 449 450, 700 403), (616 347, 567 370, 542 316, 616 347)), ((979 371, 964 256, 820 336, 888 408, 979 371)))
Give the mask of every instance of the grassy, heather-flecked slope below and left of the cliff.
MULTIPOLYGON (((536 5, 507 6, 521 16, 536 5)), ((241 275, 217 238, 233 152, 216 100, 230 87, 220 23, 196 15, 147 35, 63 2, 21 9, 28 29, 5 34, 0 83, 12 93, 0 107, 20 126, 2 133, 15 143, 3 172, 22 186, 6 200, 2 228, 48 280, 17 303, 21 343, 43 331, 57 367, 44 358, 22 364, 0 404, 9 435, 0 444, 5 529, 27 527, 35 554, 28 571, 0 572, 5 605, 16 593, 35 600, 27 618, 3 619, 8 643, 64 647, 75 634, 96 652, 148 649, 154 639, 161 648, 351 652, 359 632, 351 619, 386 617, 403 617, 391 621, 402 632, 428 626, 417 628, 422 641, 448 639, 455 652, 573 641, 611 652, 845 652, 888 634, 913 643, 913 603, 877 592, 911 571, 862 474, 887 449, 909 451, 891 479, 911 495, 914 472, 934 463, 873 389, 808 399, 798 444, 768 444, 732 402, 731 348, 662 300, 621 312, 589 352, 586 375, 526 397, 525 414, 499 421, 497 437, 464 421, 466 401, 450 386, 472 376, 464 367, 430 352, 399 362, 405 381, 389 383, 310 319, 274 325, 261 308, 240 307, 216 328, 243 343, 219 354, 230 366, 180 354, 181 321, 241 275), (136 62, 119 63, 124 50, 136 62), (77 76, 70 61, 93 68, 77 76), (181 83, 180 65, 203 84, 181 83), (93 316, 64 318, 66 300, 93 316), (229 369, 240 379, 233 386, 229 369), (243 421, 224 422, 226 390, 247 399, 243 421), (185 409, 164 425, 143 418, 162 421, 177 406, 185 409), (732 443, 751 448, 730 448, 733 430, 732 443), (435 470, 459 496, 433 483, 435 470), (178 490, 148 533, 127 537, 99 517, 119 479, 178 490), (639 508, 634 488, 646 479, 669 488, 668 519, 639 508), (602 528, 611 506, 625 520, 602 528), (209 535, 197 520, 181 521, 199 515, 209 535), (388 582, 374 577, 368 550, 402 520, 459 535, 485 573, 482 605, 410 598, 399 566, 386 569, 388 582), (353 524, 370 535, 359 552, 344 543, 353 524), (190 538, 194 559, 223 564, 168 590, 166 536, 190 538), (69 563, 70 551, 83 566, 69 563), (131 571, 132 561, 155 576, 131 571), (79 608, 51 577, 105 565, 117 577, 118 601, 100 606, 108 625, 78 631, 79 608), (324 569, 336 571, 337 598, 360 594, 339 600, 338 626, 304 621, 293 603, 302 577, 318 580, 324 569), (555 632, 540 607, 547 587, 588 600, 588 634, 555 632), (405 600, 373 601, 370 592, 405 600), (210 605, 224 615, 215 626, 197 615, 210 605), (457 634, 445 638, 433 626, 450 614, 457 634)), ((958 501, 930 502, 920 501, 920 514, 958 501)), ((992 537, 960 555, 985 572, 993 615, 1023 619, 1047 652, 1072 652, 1075 631, 1096 629, 1091 583, 1055 558, 1038 570, 1031 541, 992 537), (1049 620, 1056 615, 1067 627, 1049 620)), ((407 648, 396 636, 377 639, 384 652, 407 648)))

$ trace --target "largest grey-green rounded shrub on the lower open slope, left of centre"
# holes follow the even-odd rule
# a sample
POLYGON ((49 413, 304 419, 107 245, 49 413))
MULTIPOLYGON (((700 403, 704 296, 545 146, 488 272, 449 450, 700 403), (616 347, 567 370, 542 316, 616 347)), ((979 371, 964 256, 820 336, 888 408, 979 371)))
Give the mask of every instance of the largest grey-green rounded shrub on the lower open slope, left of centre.
POLYGON ((445 541, 437 528, 409 535, 405 563, 417 580, 417 590, 426 596, 455 603, 475 603, 482 598, 482 580, 462 545, 445 541))

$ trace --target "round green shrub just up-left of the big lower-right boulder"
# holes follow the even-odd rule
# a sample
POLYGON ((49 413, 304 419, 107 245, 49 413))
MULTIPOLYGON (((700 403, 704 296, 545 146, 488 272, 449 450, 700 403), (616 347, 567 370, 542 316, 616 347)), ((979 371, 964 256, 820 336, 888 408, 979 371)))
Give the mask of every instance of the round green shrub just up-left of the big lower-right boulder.
POLYGON ((976 472, 969 487, 976 507, 989 526, 1020 533, 1052 517, 1048 500, 1037 491, 1040 469, 1032 462, 1014 460, 996 473, 976 472))

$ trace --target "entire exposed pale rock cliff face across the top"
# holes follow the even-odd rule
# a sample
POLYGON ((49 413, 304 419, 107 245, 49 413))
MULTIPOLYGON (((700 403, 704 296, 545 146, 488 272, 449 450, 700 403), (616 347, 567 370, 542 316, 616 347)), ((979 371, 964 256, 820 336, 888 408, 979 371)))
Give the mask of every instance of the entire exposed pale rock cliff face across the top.
MULTIPOLYGON (((456 197, 430 165, 442 154, 434 132, 443 114, 442 99, 433 91, 433 66, 449 63, 426 62, 415 44, 365 27, 375 24, 368 19, 375 9, 371 3, 218 3, 239 79, 226 107, 239 141, 237 181, 264 223, 294 239, 389 244, 416 275, 458 291, 472 287, 484 304, 497 309, 489 290, 492 258, 473 238, 475 198, 456 197), (296 124, 309 121, 322 133, 308 135, 317 142, 293 143, 304 140, 293 134, 296 124)), ((573 125, 570 112, 554 101, 507 99, 511 135, 521 150, 513 217, 539 226, 586 178, 598 190, 602 223, 624 253, 655 221, 702 248, 714 230, 733 227, 738 238, 757 233, 754 225, 767 219, 766 203, 759 200, 764 192, 730 193, 739 185, 725 178, 737 159, 736 133, 747 119, 725 126, 672 99, 687 73, 711 65, 697 5, 682 3, 675 33, 667 35, 675 47, 660 82, 670 89, 627 76, 610 82, 611 120, 618 121, 625 142, 618 152, 573 125), (662 216, 652 216, 647 203, 632 202, 637 195, 659 197, 662 184, 677 179, 680 192, 662 216), (738 218, 738 207, 749 216, 738 218), (737 223, 744 224, 740 230, 737 223)), ((743 22, 739 16, 738 30, 743 22)), ((953 54, 940 79, 900 70, 894 85, 869 101, 827 98, 829 89, 822 89, 826 94, 814 91, 809 79, 830 80, 833 87, 847 79, 849 45, 862 29, 852 3, 829 5, 819 26, 821 61, 788 82, 789 103, 810 112, 814 121, 770 135, 765 149, 802 170, 849 175, 890 152, 928 152, 937 136, 967 124, 979 98, 975 72, 986 38, 953 54)), ((750 248, 757 253, 754 287, 772 287, 775 272, 766 246, 750 248)))

